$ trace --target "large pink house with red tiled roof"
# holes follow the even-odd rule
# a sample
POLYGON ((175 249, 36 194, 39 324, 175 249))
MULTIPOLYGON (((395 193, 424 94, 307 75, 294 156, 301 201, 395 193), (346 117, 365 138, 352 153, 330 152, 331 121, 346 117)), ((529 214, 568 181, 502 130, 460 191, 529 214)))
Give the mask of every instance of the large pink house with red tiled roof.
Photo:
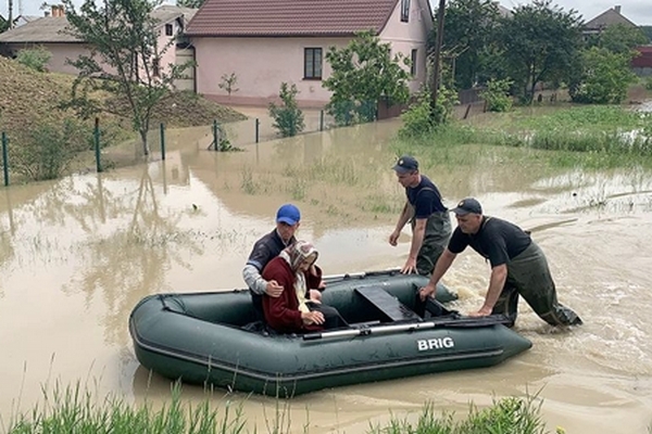
POLYGON ((428 0, 206 0, 188 24, 196 50, 197 91, 218 102, 265 105, 283 81, 297 85, 302 106, 330 98, 330 47, 346 47, 360 30, 374 30, 393 53, 413 60, 410 88, 426 79, 426 41, 432 29, 428 0), (237 92, 220 88, 235 74, 237 92))

